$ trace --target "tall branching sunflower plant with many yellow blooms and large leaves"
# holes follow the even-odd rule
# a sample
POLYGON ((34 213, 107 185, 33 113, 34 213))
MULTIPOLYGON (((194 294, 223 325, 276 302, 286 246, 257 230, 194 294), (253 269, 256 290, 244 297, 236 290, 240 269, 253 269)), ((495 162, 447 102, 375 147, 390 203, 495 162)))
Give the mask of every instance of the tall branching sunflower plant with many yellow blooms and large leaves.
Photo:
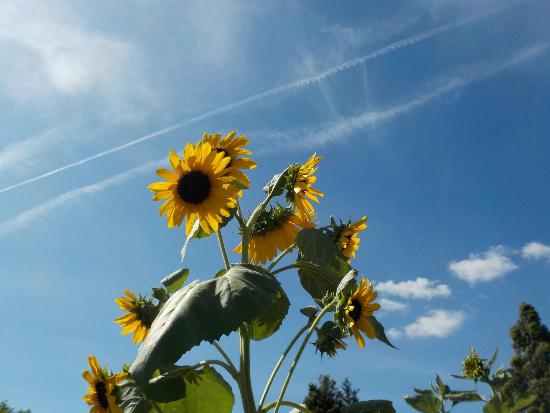
MULTIPOLYGON (((202 141, 187 144, 182 157, 170 151, 171 170, 157 170, 163 181, 148 188, 154 192, 155 201, 163 202, 160 214, 166 217, 168 228, 185 222, 181 259, 193 245, 191 240, 199 242, 216 233, 224 268, 216 274, 203 273, 206 279, 190 283, 187 279, 195 270, 187 268, 159 277, 160 285, 152 288, 150 298, 139 294, 138 299, 125 290, 126 298, 117 299, 117 303, 127 313, 116 321, 123 334, 139 329, 134 342, 138 344, 143 339, 143 343, 124 373, 113 374, 105 367, 100 371, 91 365, 97 379, 89 381, 85 400, 94 412, 110 413, 120 407, 125 413, 229 413, 235 397, 226 378, 235 381, 244 413, 271 409, 277 413, 281 406, 313 412, 284 399, 312 334, 318 335, 317 349, 331 357, 337 354, 336 349, 346 350, 344 340, 352 334, 358 340, 359 333, 354 330, 358 325, 369 338, 392 346, 384 327, 373 315, 380 308, 373 302, 376 293, 364 277, 360 284, 357 282, 358 271, 351 264, 359 248, 358 233, 366 228, 366 217, 355 224, 349 221, 341 225, 331 219, 325 227, 314 222, 310 201, 318 203, 324 195, 313 188, 321 161, 316 154, 306 163, 294 163, 276 174, 263 188, 264 201, 250 215, 244 215, 240 202, 250 181, 243 170, 256 166, 247 157, 247 144, 246 137, 237 136, 235 131, 225 138, 205 134, 202 141), (238 264, 231 264, 222 229, 227 231, 229 223, 235 221, 240 244, 233 251, 241 256, 238 264), (290 258, 293 251, 297 254, 290 258), (285 256, 291 264, 280 266, 285 256), (252 265, 251 261, 263 265, 252 265), (288 270, 298 270, 297 276, 311 296, 312 305, 303 309, 307 322, 283 351, 257 402, 251 384, 251 340, 268 339, 283 325, 291 300, 277 277, 288 270), (369 290, 364 292, 366 286, 369 290), (368 300, 359 299, 365 294, 368 300), (142 301, 147 303, 147 312, 142 301), (319 328, 329 314, 332 319, 325 320, 319 328), (240 338, 238 363, 217 341, 234 333, 240 338), (220 353, 221 359, 189 363, 188 352, 205 341, 220 353), (296 343, 298 351, 278 396, 266 403, 274 378, 296 343), (220 369, 227 375, 222 376, 220 369), (114 380, 115 377, 124 379, 114 380)), ((211 260, 211 255, 207 259, 211 260)), ((358 344, 363 347, 365 341, 361 338, 358 344)), ((389 401, 359 401, 357 390, 349 381, 335 389, 328 376, 323 380, 318 391, 323 397, 326 395, 327 403, 332 397, 333 407, 338 409, 335 412, 395 413, 389 401)))

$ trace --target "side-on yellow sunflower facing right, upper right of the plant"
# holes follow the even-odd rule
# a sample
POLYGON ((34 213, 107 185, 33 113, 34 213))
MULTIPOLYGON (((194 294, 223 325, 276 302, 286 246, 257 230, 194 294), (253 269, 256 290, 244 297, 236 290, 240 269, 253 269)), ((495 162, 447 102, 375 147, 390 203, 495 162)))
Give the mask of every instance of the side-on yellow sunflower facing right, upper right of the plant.
POLYGON ((314 153, 305 164, 293 165, 290 170, 286 185, 286 199, 288 202, 293 203, 298 211, 305 216, 315 216, 315 209, 310 201, 319 203, 318 197, 324 196, 321 191, 312 187, 317 181, 314 174, 321 159, 320 156, 314 153))

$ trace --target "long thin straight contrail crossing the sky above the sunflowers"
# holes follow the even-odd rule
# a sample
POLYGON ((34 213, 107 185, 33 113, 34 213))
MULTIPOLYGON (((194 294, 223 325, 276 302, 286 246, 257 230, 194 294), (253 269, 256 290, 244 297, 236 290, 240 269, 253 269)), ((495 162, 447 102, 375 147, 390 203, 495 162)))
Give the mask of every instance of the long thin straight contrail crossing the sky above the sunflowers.
POLYGON ((19 183, 7 186, 5 188, 0 189, 0 193, 11 191, 13 189, 16 189, 16 188, 31 184, 33 182, 42 180, 42 179, 47 178, 49 176, 56 175, 60 172, 66 171, 67 169, 71 169, 71 168, 74 168, 76 166, 91 162, 95 159, 102 158, 104 156, 113 154, 115 152, 122 151, 126 148, 137 145, 139 143, 143 143, 143 142, 149 141, 151 139, 158 138, 158 137, 166 135, 167 133, 170 133, 170 132, 172 132, 176 129, 180 129, 184 126, 199 122, 203 119, 210 118, 210 117, 218 115, 220 113, 228 112, 232 109, 235 109, 235 108, 238 108, 238 107, 241 107, 241 106, 245 106, 249 103, 253 103, 253 102, 256 102, 258 100, 265 99, 265 98, 268 98, 268 97, 273 96, 273 95, 277 95, 277 94, 285 92, 285 91, 289 91, 289 90, 292 90, 292 89, 297 89, 297 88, 301 88, 301 87, 304 87, 304 86, 309 86, 309 85, 318 83, 321 80, 323 80, 327 77, 333 76, 333 75, 335 75, 335 74, 337 74, 337 73, 339 73, 343 70, 350 69, 352 67, 363 64, 363 63, 365 63, 369 60, 376 59, 376 58, 378 58, 380 56, 383 56, 385 54, 394 52, 396 50, 402 49, 402 48, 407 47, 407 46, 417 44, 417 43, 422 42, 424 40, 430 39, 434 36, 437 36, 437 35, 443 34, 445 32, 448 32, 450 30, 453 30, 453 29, 465 26, 467 24, 476 22, 476 21, 481 20, 483 18, 492 16, 492 15, 497 14, 499 12, 502 12, 502 11, 512 7, 512 6, 515 6, 516 4, 519 4, 519 3, 522 3, 522 2, 525 2, 525 1, 526 0, 512 1, 512 2, 509 2, 509 3, 503 4, 503 5, 499 5, 499 6, 496 6, 496 7, 489 8, 487 10, 484 10, 484 11, 476 13, 476 14, 472 14, 470 16, 466 16, 466 17, 462 17, 462 18, 453 20, 449 23, 445 23, 445 24, 443 24, 441 26, 438 26, 438 27, 435 27, 433 29, 430 29, 430 30, 427 30, 427 31, 424 31, 424 32, 421 32, 421 33, 414 34, 412 36, 409 36, 409 37, 406 37, 404 39, 401 39, 401 40, 395 41, 393 43, 390 43, 389 45, 384 46, 381 49, 375 50, 375 51, 373 51, 371 53, 368 53, 366 55, 359 56, 359 57, 356 57, 354 59, 347 60, 347 61, 345 61, 343 63, 340 63, 336 66, 333 66, 333 67, 331 67, 327 70, 324 70, 324 71, 322 71, 322 72, 320 72, 320 73, 318 73, 314 76, 298 79, 298 80, 295 80, 293 82, 290 82, 290 83, 287 83, 287 84, 284 84, 284 85, 280 85, 280 86, 268 89, 264 92, 261 92, 261 93, 249 96, 247 98, 235 101, 233 103, 229 103, 229 104, 221 106, 219 108, 209 110, 207 112, 204 112, 204 113, 201 113, 199 115, 193 116, 193 117, 191 117, 189 119, 186 119, 184 121, 175 123, 171 126, 167 126, 165 128, 162 128, 162 129, 160 129, 156 132, 152 132, 150 134, 147 134, 147 135, 141 136, 137 139, 126 142, 122 145, 114 146, 110 149, 107 149, 107 150, 102 151, 102 152, 98 152, 95 155, 88 156, 88 157, 86 157, 84 159, 81 159, 79 161, 69 163, 67 165, 64 165, 64 166, 61 166, 59 168, 53 169, 49 172, 43 173, 41 175, 37 175, 33 178, 29 178, 29 179, 26 179, 26 180, 21 181, 19 183))

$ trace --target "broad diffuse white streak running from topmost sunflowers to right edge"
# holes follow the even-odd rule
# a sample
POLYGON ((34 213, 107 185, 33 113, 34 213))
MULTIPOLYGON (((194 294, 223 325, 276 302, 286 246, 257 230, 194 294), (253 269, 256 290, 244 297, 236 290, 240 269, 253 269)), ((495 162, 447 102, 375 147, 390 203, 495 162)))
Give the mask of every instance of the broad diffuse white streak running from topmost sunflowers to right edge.
POLYGON ((422 88, 422 91, 409 100, 398 103, 387 109, 369 110, 359 115, 340 119, 321 126, 298 128, 290 131, 267 131, 262 134, 272 142, 278 142, 281 147, 304 148, 318 147, 349 138, 354 132, 383 122, 389 122, 399 116, 410 113, 428 103, 433 102, 451 92, 462 89, 476 81, 493 76, 539 56, 548 49, 549 44, 528 47, 517 52, 512 58, 499 64, 475 65, 462 70, 455 76, 434 79, 422 88))

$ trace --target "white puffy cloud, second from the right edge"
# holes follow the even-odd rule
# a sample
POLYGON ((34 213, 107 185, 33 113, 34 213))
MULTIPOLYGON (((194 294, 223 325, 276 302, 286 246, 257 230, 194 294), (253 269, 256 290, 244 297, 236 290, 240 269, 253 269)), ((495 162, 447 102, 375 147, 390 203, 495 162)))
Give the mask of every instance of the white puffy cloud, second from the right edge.
POLYGON ((461 261, 452 261, 449 270, 458 278, 475 284, 504 277, 518 266, 505 255, 504 247, 491 247, 481 254, 472 253, 461 261))

